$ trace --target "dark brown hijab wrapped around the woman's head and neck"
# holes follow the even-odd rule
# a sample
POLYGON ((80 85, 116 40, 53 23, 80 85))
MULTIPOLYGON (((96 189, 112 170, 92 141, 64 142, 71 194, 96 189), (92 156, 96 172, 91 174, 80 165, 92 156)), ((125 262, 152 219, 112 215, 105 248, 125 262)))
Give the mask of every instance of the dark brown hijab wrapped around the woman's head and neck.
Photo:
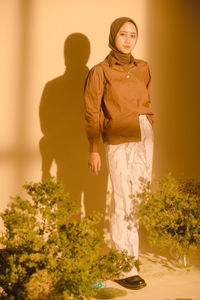
POLYGON ((133 56, 131 53, 122 53, 119 51, 115 45, 115 38, 117 36, 118 31, 120 28, 126 23, 126 22, 131 22, 136 28, 137 35, 138 35, 138 27, 136 23, 128 18, 128 17, 122 17, 114 20, 110 26, 110 35, 109 35, 109 44, 108 46, 112 49, 110 52, 110 55, 112 55, 114 58, 116 58, 121 64, 129 64, 131 61, 133 61, 133 56))

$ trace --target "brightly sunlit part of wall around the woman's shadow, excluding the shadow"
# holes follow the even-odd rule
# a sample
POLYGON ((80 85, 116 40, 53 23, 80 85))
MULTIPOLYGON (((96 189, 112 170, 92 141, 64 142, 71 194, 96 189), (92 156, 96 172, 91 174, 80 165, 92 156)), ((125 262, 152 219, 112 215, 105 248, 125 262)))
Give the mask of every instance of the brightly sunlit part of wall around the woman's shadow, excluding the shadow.
MULTIPOLYGON (((22 185, 25 182, 41 180, 42 159, 39 142, 43 135, 39 107, 45 84, 64 74, 63 49, 66 38, 70 34, 79 32, 89 39, 91 53, 87 67, 91 68, 103 60, 110 51, 107 44, 111 22, 120 16, 130 16, 138 24, 140 34, 134 55, 145 59, 145 2, 145 0, 124 0, 123 5, 121 1, 116 0, 0 2, 0 27, 3 41, 3 47, 0 49, 1 211, 6 207, 10 196, 16 194, 23 196, 22 185)), ((82 49, 78 48, 78 51, 81 56, 82 49)), ((52 99, 56 101, 56 97, 52 99)), ((55 119, 53 121, 56 122, 55 119)), ((87 141, 85 136, 83 138, 85 153, 87 141)), ((57 157, 57 163, 60 157, 61 154, 57 157)), ((83 157, 87 167, 87 155, 83 154, 83 157)), ((57 171, 54 160, 51 174, 56 175, 57 171)), ((61 168, 59 172, 62 178, 61 168)), ((80 176, 83 176, 81 172, 80 176)), ((96 189, 97 185, 101 187, 103 182, 105 183, 107 178, 105 167, 102 174, 102 178, 105 178, 100 177, 100 184, 93 175, 88 174, 90 184, 88 183, 87 190, 91 186, 96 189)), ((105 187, 103 190, 105 192, 105 187)), ((99 193, 99 197, 101 196, 100 191, 95 192, 99 193)), ((92 194, 90 198, 92 199, 92 194)))

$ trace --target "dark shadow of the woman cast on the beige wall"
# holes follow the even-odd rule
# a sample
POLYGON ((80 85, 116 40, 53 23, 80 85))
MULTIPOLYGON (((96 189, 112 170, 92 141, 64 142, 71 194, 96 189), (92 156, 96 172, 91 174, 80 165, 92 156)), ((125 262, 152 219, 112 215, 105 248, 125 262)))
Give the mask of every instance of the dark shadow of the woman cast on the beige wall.
MULTIPOLYGON (((70 198, 80 201, 84 192, 86 214, 93 210, 104 213, 107 171, 105 164, 98 176, 87 166, 88 141, 85 134, 83 89, 90 55, 88 38, 73 33, 64 44, 66 70, 47 82, 40 104, 40 140, 42 180, 48 178, 53 161, 57 180, 62 181, 70 198)), ((103 149, 101 149, 102 152, 103 149)), ((102 153, 104 156, 104 153, 102 153)), ((105 161, 105 160, 104 160, 105 161)))

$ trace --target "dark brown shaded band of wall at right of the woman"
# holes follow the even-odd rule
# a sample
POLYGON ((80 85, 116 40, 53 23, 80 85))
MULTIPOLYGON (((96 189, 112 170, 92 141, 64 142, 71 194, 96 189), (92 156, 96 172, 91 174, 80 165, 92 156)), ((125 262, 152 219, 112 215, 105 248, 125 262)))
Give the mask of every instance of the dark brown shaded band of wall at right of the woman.
POLYGON ((156 111, 154 174, 200 179, 200 1, 149 0, 147 55, 156 111))

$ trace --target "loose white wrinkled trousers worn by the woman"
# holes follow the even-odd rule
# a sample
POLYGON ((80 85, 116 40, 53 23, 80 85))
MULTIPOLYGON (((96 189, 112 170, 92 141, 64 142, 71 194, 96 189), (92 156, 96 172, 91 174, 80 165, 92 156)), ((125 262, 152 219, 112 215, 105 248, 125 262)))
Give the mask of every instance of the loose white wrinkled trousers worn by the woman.
MULTIPOLYGON (((138 259, 138 224, 126 220, 132 207, 130 195, 139 191, 139 177, 151 181, 153 160, 153 129, 146 115, 139 116, 141 141, 106 145, 106 156, 113 186, 111 201, 111 237, 116 249, 127 250, 138 259)), ((123 277, 137 275, 134 267, 123 277)), ((122 277, 122 278, 123 278, 122 277)))

